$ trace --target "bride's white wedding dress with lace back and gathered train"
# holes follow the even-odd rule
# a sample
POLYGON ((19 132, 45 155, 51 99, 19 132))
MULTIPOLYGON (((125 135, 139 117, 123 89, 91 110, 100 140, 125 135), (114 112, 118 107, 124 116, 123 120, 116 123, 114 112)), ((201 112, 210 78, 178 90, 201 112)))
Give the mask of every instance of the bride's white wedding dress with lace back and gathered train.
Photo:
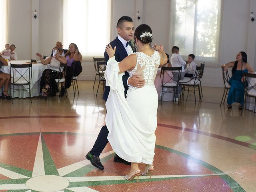
POLYGON ((108 141, 113 150, 128 162, 152 164, 155 149, 157 126, 158 94, 154 86, 160 55, 152 56, 143 52, 137 55, 137 63, 130 76, 140 75, 146 81, 142 88, 130 86, 127 99, 124 97, 122 74, 118 74, 118 62, 114 57, 108 60, 105 78, 110 86, 106 102, 106 125, 108 141))

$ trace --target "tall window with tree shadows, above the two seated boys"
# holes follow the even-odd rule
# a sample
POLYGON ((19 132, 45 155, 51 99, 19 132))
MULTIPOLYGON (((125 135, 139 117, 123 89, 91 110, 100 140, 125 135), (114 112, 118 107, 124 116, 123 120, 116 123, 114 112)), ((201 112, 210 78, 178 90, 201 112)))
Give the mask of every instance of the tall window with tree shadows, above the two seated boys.
MULTIPOLYGON (((220 0, 176 0, 173 45, 180 54, 195 54, 206 64, 215 65, 218 56, 220 0)), ((172 26, 173 26, 172 25, 172 26)))

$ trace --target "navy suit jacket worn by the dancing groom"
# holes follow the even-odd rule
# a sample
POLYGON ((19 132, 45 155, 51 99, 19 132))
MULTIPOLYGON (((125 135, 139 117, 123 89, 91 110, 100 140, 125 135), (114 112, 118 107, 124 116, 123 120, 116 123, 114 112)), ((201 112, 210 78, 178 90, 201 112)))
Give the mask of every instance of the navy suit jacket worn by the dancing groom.
MULTIPOLYGON (((126 49, 124 48, 124 45, 122 44, 122 42, 118 39, 118 37, 116 37, 116 39, 114 39, 112 42, 110 42, 110 45, 112 46, 112 48, 114 48, 116 46, 116 52, 115 52, 115 58, 117 62, 122 61, 124 58, 126 58, 128 56, 126 49)), ((132 47, 133 52, 136 52, 135 48, 132 47)), ((104 52, 104 58, 106 60, 106 63, 108 62, 108 54, 106 52, 104 52)), ((123 84, 124 84, 124 96, 126 98, 126 94, 127 94, 127 90, 128 90, 128 84, 127 84, 127 80, 129 78, 129 73, 128 72, 124 72, 123 75, 123 84)), ((108 94, 110 92, 110 87, 106 86, 105 87, 105 91, 103 94, 103 99, 107 100, 108 99, 108 94)))

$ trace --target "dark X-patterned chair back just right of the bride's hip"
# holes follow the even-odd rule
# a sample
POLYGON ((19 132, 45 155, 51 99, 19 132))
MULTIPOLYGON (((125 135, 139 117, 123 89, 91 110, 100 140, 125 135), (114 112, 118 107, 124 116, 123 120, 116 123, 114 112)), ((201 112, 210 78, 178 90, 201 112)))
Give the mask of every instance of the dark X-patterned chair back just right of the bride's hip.
POLYGON ((178 86, 178 83, 180 81, 181 71, 182 67, 164 67, 162 66, 162 87, 176 87, 178 86), (172 75, 170 75, 169 72, 172 72, 172 75), (164 76, 167 76, 167 78, 164 78, 164 76), (168 80, 166 80, 168 79, 168 80), (174 80, 175 79, 175 80, 174 80))

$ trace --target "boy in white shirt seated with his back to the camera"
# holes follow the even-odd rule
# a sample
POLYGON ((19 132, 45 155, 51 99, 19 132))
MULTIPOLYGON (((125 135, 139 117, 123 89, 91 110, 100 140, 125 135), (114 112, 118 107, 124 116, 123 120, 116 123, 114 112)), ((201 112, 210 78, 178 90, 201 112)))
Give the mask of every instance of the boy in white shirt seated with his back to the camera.
MULTIPOLYGON (((184 66, 186 65, 186 62, 180 56, 179 49, 180 48, 178 48, 177 46, 172 47, 171 64, 172 64, 172 67, 182 67, 180 79, 184 79, 184 75, 185 75, 185 67, 184 66)), ((178 74, 175 74, 173 72, 173 79, 175 81, 177 81, 178 74)), ((178 86, 178 94, 180 94, 180 91, 181 91, 181 85, 178 86)), ((174 94, 175 93, 176 92, 174 91, 174 94)), ((178 95, 177 95, 177 97, 178 97, 178 95)))

